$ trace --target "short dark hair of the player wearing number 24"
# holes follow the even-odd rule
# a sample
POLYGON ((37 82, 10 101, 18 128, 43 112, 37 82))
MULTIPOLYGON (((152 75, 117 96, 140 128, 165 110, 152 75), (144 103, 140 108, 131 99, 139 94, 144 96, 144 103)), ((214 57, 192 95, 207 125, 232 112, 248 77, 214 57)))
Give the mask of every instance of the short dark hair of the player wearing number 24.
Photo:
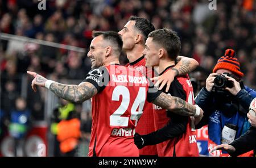
POLYGON ((115 45, 118 49, 119 54, 122 52, 123 41, 121 36, 114 31, 93 31, 93 37, 103 36, 104 40, 110 41, 111 44, 115 45))

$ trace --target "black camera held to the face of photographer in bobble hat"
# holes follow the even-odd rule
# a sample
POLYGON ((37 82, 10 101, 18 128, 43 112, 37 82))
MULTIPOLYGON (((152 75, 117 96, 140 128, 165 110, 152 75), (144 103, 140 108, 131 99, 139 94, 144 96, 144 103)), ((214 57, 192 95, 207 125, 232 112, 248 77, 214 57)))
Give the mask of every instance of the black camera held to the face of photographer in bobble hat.
POLYGON ((227 72, 223 73, 222 75, 217 75, 213 81, 215 90, 224 90, 225 87, 232 88, 234 86, 233 81, 229 81, 228 78, 226 78, 226 75, 234 78, 232 74, 227 72))

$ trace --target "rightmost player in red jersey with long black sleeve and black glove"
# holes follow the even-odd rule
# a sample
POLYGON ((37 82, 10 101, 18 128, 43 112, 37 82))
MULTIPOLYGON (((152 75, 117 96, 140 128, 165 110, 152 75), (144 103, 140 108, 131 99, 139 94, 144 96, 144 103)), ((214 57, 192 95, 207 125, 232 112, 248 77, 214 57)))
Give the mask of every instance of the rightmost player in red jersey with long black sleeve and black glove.
MULTIPOLYGON (((176 32, 160 29, 151 32, 146 40, 144 56, 146 66, 153 66, 160 75, 171 70, 180 52, 180 38, 176 32), (156 68, 157 67, 157 68, 156 68), (157 70, 158 69, 158 70, 157 70)), ((162 91, 165 92, 166 88, 162 91)), ((170 89, 165 92, 194 104, 193 87, 188 74, 175 77, 170 89)), ((155 132, 135 135, 138 148, 157 144, 158 156, 199 156, 196 143, 195 122, 192 117, 180 116, 154 104, 155 132), (193 128, 192 128, 193 127, 193 128)))

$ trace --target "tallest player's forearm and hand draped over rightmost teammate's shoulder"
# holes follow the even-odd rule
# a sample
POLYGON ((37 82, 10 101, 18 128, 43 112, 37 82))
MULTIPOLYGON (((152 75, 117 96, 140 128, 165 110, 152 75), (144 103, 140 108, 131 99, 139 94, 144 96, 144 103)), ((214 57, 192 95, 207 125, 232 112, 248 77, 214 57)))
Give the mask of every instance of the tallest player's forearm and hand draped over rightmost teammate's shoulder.
POLYGON ((151 78, 151 80, 155 82, 155 86, 162 83, 159 90, 163 89, 163 87, 166 85, 166 91, 168 91, 172 81, 174 81, 174 77, 188 74, 199 66, 199 62, 197 62, 195 59, 184 56, 178 56, 175 62, 176 65, 166 73, 160 75, 159 77, 151 78))

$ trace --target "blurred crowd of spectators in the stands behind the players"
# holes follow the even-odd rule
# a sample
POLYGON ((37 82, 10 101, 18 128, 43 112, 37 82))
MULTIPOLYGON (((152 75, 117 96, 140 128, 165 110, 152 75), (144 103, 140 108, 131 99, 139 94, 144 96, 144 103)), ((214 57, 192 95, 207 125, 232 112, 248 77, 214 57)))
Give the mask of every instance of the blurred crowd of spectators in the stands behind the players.
MULTIPOLYGON (((150 19, 156 29, 166 27, 178 33, 182 44, 180 55, 193 57, 200 63, 191 74, 196 84, 195 95, 227 48, 236 51, 245 73, 243 81, 255 89, 256 3, 253 0, 217 0, 216 10, 209 9, 207 0, 47 0, 46 10, 38 9, 39 2, 0 0, 0 33, 80 47, 84 52, 0 37, 1 137, 5 135, 4 128, 10 129, 10 124, 15 123, 15 116, 12 117, 15 112, 26 111, 28 121, 48 121, 48 127, 49 122, 52 124, 60 116, 53 115, 53 108, 47 112, 46 90, 32 92, 27 70, 63 83, 80 83, 90 70, 86 54, 92 31, 119 31, 131 15, 150 19)), ((121 62, 127 62, 124 54, 121 62)), ((57 102, 59 105, 55 104, 54 109, 67 105, 57 102)), ((84 125, 81 131, 85 139, 90 132, 89 109, 87 103, 76 104, 71 110, 84 125)), ((16 136, 19 137, 22 136, 16 136)))

